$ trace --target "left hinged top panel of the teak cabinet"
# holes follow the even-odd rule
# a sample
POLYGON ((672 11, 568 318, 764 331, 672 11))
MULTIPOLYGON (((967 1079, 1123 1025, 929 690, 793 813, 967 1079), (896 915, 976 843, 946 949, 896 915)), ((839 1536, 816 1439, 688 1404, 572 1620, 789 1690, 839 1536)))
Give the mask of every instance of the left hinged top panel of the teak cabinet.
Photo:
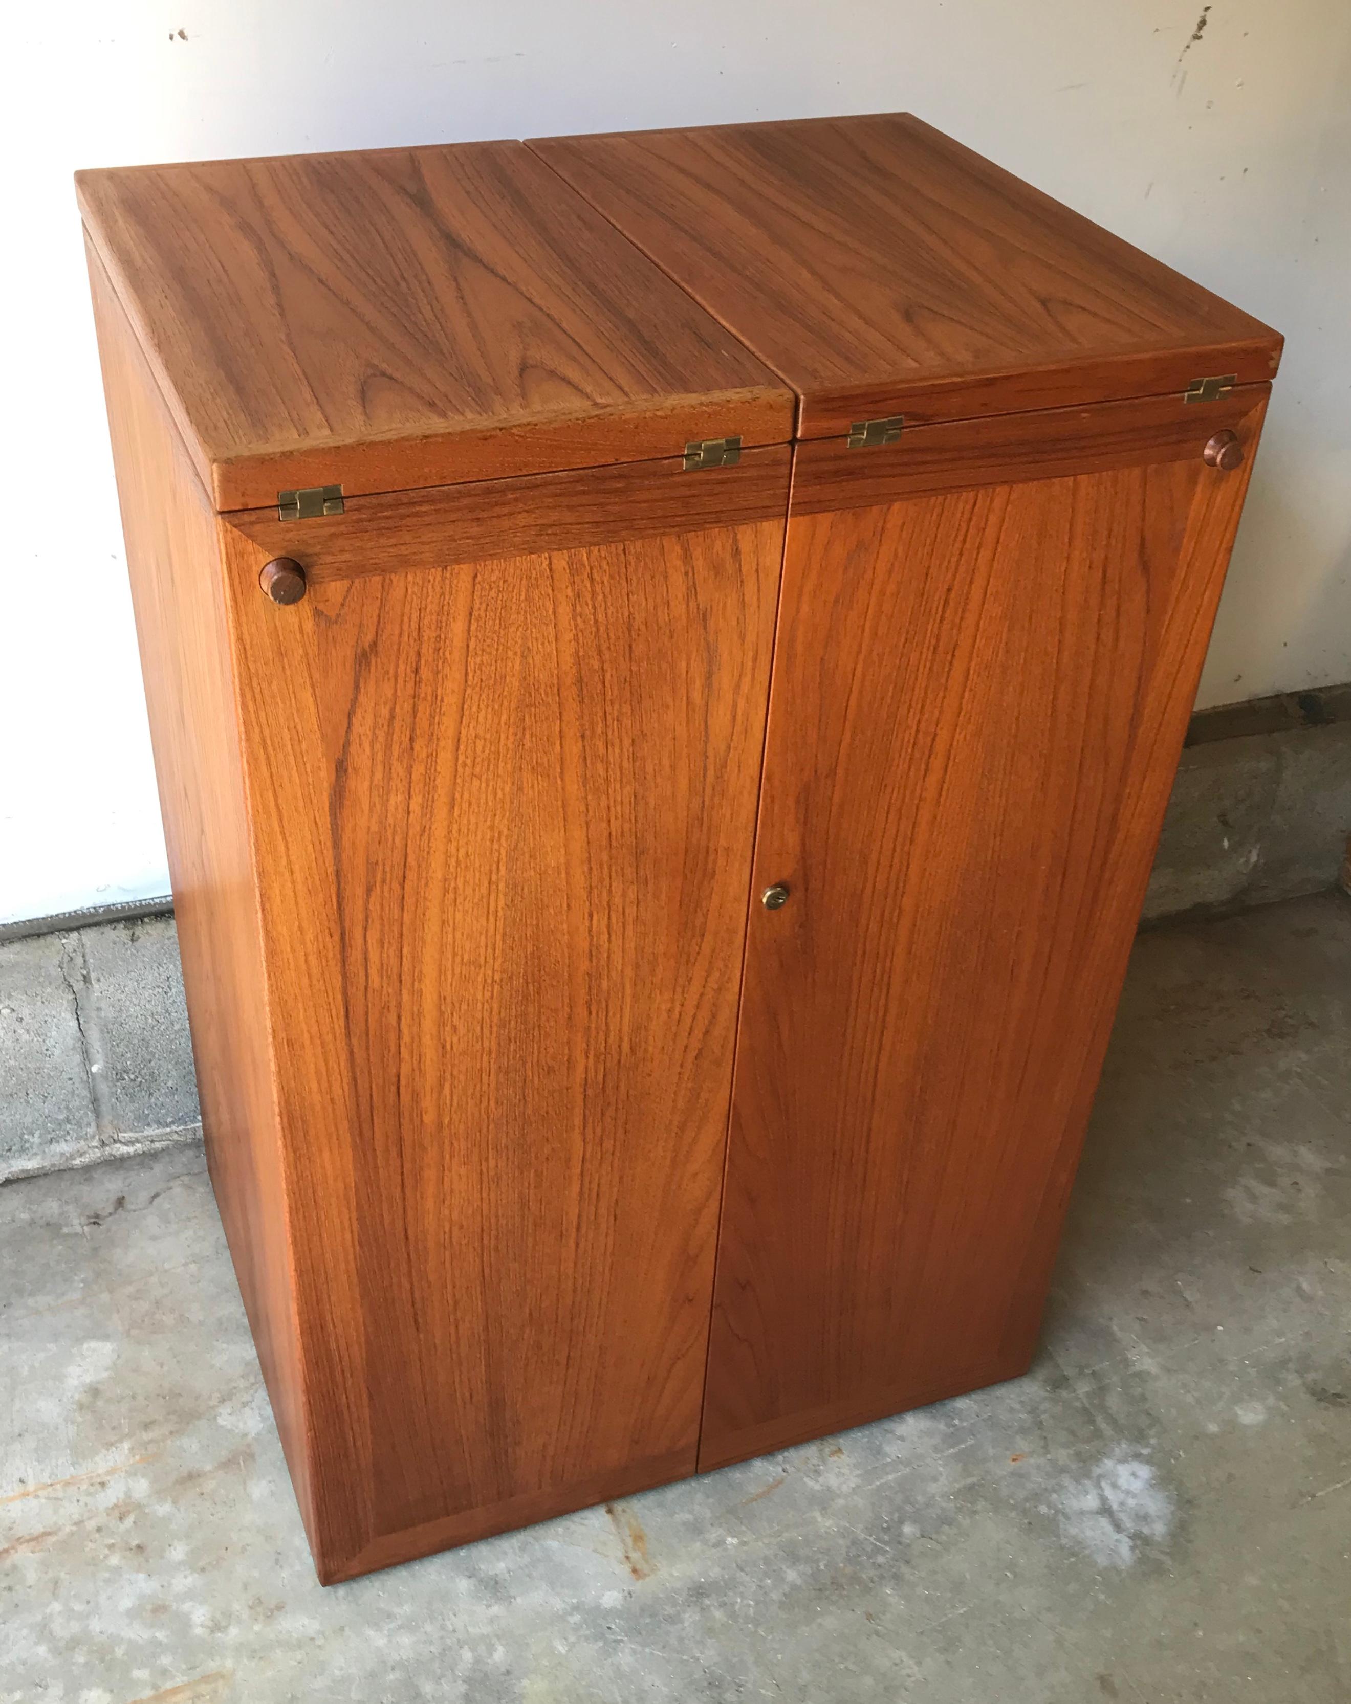
POLYGON ((787 387, 520 143, 77 187, 220 509, 790 436, 787 387))

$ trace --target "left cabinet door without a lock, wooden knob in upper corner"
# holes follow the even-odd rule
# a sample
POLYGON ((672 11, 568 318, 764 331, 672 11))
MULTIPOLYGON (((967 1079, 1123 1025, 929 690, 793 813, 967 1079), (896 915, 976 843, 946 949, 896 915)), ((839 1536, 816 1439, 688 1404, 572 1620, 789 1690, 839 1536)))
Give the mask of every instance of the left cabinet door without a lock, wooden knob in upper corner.
POLYGON ((479 487, 223 527, 325 1578, 695 1469, 787 450, 746 462, 497 481, 487 561, 479 487), (538 545, 607 508, 647 535, 538 545))

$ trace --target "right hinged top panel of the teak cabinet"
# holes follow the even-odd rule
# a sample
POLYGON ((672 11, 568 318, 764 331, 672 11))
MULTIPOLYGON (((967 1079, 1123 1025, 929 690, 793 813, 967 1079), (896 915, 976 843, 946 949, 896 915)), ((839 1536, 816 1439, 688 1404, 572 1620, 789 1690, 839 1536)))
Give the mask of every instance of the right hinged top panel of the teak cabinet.
POLYGON ((797 390, 799 438, 1276 371, 1271 327, 910 114, 530 147, 797 390))

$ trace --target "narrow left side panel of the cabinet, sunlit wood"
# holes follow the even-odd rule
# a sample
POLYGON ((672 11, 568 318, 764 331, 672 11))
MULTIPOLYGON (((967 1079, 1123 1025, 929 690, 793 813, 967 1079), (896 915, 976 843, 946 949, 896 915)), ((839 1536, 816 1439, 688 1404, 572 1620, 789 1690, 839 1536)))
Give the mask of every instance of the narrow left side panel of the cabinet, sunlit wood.
POLYGON ((92 250, 89 266, 206 1157, 308 1520, 278 1111, 218 521, 92 250))

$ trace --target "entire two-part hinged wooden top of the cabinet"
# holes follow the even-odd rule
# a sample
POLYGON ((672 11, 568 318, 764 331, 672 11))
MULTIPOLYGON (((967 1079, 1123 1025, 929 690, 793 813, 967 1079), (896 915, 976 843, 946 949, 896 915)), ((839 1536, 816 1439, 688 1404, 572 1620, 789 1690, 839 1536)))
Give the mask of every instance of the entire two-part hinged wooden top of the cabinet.
POLYGON ((1256 383, 1281 349, 908 114, 77 189, 218 509, 1256 383))

